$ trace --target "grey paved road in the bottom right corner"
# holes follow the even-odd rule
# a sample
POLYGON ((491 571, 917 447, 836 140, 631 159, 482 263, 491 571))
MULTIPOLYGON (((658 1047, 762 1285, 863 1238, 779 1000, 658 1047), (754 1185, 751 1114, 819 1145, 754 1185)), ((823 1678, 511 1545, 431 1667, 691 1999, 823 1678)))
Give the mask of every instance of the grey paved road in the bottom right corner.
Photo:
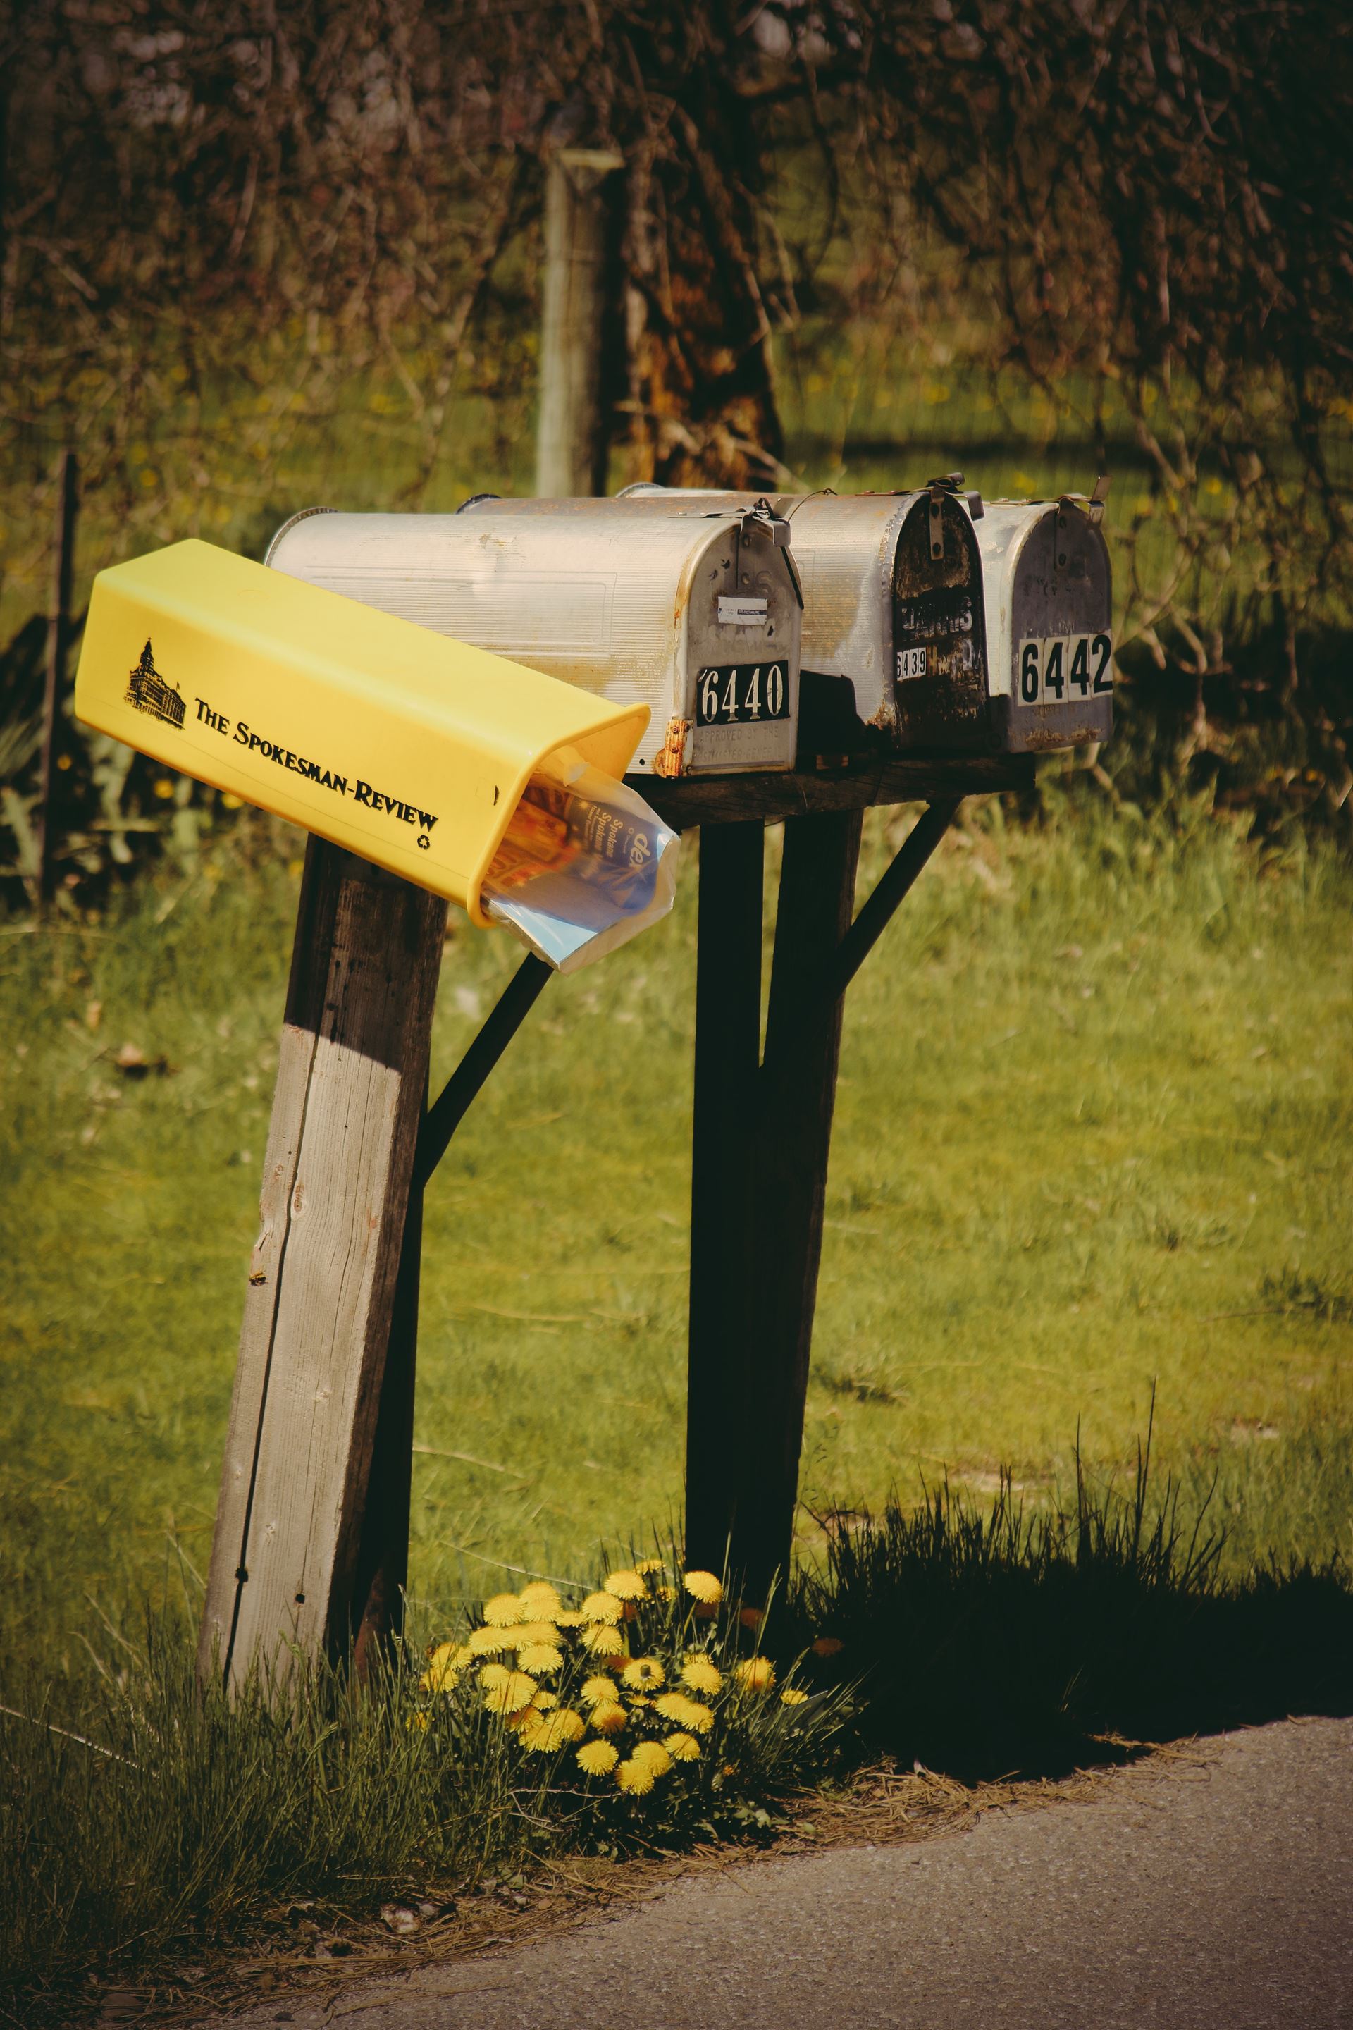
POLYGON ((1233 1734, 1203 1766, 919 1845, 675 1882, 331 2020, 349 2010, 353 2030, 1353 2026, 1353 1721, 1233 1734))

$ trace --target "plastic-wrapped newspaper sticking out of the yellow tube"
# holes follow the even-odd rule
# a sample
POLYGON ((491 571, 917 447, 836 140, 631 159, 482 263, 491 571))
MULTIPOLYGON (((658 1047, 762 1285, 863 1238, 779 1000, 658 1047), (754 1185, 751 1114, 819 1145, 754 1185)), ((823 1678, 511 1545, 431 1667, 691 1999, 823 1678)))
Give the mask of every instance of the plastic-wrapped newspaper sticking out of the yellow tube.
POLYGON ((576 972, 667 916, 680 844, 641 796, 562 747, 513 812, 485 875, 485 916, 576 972))

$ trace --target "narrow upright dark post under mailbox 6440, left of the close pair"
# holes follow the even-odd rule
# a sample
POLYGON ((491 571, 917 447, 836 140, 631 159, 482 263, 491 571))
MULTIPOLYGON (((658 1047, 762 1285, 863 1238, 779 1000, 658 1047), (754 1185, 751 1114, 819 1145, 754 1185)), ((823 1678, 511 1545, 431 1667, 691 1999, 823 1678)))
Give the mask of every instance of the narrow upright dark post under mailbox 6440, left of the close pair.
POLYGON ((722 1571, 736 1520, 753 1317, 751 1190, 761 1058, 765 830, 700 828, 696 1096, 690 1165, 686 1557, 722 1571))

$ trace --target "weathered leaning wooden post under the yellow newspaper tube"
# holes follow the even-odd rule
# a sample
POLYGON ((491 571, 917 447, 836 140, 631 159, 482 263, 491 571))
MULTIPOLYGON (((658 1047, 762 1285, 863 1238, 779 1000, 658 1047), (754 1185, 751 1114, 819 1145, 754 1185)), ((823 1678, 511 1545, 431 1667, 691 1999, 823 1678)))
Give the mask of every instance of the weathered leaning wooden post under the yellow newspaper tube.
MULTIPOLYGON (((444 924, 440 897, 310 840, 199 1650, 229 1685, 284 1669, 288 1640, 316 1654, 367 1616, 387 1626, 371 1598, 402 1579, 389 1529, 373 1555, 367 1494, 444 924)), ((412 1334, 400 1358, 394 1423, 412 1334)))

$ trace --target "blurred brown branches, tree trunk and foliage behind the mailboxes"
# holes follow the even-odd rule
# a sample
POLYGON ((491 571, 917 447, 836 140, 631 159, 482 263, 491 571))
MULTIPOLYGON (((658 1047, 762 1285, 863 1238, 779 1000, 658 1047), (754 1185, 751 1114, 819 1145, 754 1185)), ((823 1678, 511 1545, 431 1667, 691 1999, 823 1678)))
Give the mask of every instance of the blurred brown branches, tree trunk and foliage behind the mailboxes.
MULTIPOLYGON (((32 893, 55 463, 118 556, 531 485, 544 164, 607 148, 611 483, 1114 475, 1126 737, 1347 828, 1353 24, 1337 0, 8 0, 0 875, 32 893)), ((69 719, 59 881, 215 792, 69 719)))

